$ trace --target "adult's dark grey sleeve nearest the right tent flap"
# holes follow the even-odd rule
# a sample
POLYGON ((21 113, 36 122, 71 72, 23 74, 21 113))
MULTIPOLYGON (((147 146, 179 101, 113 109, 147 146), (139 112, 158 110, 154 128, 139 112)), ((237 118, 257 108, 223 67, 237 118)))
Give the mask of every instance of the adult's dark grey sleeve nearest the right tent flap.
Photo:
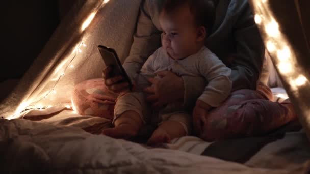
POLYGON ((262 71, 265 47, 248 3, 233 32, 237 52, 230 66, 232 90, 255 90, 262 71))

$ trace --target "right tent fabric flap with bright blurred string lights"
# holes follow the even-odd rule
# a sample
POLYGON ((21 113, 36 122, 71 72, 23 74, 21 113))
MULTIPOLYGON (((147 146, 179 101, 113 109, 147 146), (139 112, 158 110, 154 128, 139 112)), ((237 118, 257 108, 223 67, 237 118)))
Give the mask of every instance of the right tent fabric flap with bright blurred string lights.
POLYGON ((290 96, 295 113, 310 139, 310 47, 307 0, 254 1, 249 4, 276 71, 290 96), (287 13, 290 11, 290 13, 287 13), (284 54, 282 54, 285 52, 284 54))

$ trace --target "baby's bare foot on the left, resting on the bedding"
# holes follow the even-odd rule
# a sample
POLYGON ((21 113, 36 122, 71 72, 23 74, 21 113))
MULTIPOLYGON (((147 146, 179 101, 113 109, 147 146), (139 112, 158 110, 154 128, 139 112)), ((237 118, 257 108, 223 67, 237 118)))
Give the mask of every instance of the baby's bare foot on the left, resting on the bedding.
POLYGON ((103 130, 102 134, 112 138, 128 139, 136 136, 138 131, 130 124, 121 124, 117 127, 103 130))

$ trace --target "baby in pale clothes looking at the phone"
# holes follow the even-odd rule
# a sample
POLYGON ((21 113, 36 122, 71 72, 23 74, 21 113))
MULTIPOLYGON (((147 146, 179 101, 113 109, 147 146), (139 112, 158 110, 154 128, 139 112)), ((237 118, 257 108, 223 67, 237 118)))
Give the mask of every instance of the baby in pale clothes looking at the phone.
MULTIPOLYGON (((168 0, 160 13, 162 47, 145 62, 135 78, 133 92, 119 96, 114 110, 114 128, 103 134, 115 138, 136 136, 145 124, 156 124, 148 144, 167 143, 190 134, 192 127, 191 107, 184 101, 168 104, 158 111, 151 110, 141 89, 149 86, 147 78, 156 77, 157 72, 169 70, 178 76, 205 78, 208 85, 198 97, 197 103, 217 107, 228 97, 231 90, 231 70, 204 46, 208 16, 203 13, 203 1, 168 0)), ((186 88, 186 86, 185 86, 186 88)), ((185 99, 186 100, 186 99, 185 99)), ((195 103, 193 101, 192 103, 195 103)), ((194 109, 194 110, 195 110, 194 109)))

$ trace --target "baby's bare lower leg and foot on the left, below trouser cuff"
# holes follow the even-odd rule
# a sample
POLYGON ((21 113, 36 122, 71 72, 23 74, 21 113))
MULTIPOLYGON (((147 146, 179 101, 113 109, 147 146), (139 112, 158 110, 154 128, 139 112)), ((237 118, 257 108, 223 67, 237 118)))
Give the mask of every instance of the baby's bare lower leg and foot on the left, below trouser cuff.
POLYGON ((113 138, 128 139, 138 134, 142 124, 140 115, 135 111, 128 110, 114 121, 114 128, 105 129, 102 134, 113 138))

